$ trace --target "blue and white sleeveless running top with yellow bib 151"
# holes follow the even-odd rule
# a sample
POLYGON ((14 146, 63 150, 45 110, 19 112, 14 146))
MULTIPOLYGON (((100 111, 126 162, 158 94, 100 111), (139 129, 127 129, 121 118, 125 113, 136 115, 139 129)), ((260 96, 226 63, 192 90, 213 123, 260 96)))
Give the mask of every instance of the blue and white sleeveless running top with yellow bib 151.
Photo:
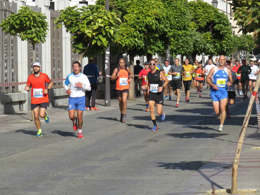
POLYGON ((224 67, 223 70, 220 70, 217 67, 214 68, 215 68, 215 72, 212 75, 212 83, 218 87, 218 90, 213 89, 213 87, 211 87, 210 91, 218 92, 218 93, 227 93, 226 83, 229 77, 227 68, 224 67))

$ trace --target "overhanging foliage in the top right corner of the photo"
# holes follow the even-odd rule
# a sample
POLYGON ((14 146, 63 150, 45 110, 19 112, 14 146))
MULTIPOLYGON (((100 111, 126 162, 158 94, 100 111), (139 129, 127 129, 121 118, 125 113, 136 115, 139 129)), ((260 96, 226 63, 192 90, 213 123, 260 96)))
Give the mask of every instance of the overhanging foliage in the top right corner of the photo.
POLYGON ((259 0, 233 0, 234 19, 242 26, 243 34, 254 32, 257 44, 260 44, 260 1, 259 0))

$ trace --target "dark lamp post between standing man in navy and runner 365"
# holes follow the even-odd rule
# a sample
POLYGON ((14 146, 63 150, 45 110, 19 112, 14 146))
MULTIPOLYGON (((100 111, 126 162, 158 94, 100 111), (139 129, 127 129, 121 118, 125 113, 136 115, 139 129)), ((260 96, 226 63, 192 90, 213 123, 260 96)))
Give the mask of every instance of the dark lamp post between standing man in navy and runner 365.
MULTIPOLYGON (((109 0, 105 2, 105 8, 109 11, 109 0)), ((105 75, 110 75, 110 48, 109 45, 105 53, 105 75)), ((110 77, 105 77, 105 106, 110 106, 110 77)))

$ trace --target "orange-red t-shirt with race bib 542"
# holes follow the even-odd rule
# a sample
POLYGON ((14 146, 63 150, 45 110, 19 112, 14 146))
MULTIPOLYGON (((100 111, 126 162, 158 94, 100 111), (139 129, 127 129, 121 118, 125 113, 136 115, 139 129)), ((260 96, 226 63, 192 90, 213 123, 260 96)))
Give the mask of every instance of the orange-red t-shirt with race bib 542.
POLYGON ((49 102, 48 94, 44 94, 43 90, 47 89, 47 84, 51 79, 48 75, 40 73, 40 76, 35 77, 34 74, 30 75, 27 80, 27 85, 31 87, 31 103, 40 104, 49 102))

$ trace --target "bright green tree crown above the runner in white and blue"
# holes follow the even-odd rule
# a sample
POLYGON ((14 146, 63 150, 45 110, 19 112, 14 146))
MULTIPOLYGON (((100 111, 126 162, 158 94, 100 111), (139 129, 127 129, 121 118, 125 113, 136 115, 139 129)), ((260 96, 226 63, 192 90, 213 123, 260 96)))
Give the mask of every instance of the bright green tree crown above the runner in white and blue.
POLYGON ((55 19, 57 28, 62 23, 70 32, 74 53, 79 53, 79 62, 83 57, 95 57, 102 54, 108 45, 119 39, 118 25, 120 19, 113 12, 108 12, 101 5, 89 5, 77 8, 67 7, 55 19))

